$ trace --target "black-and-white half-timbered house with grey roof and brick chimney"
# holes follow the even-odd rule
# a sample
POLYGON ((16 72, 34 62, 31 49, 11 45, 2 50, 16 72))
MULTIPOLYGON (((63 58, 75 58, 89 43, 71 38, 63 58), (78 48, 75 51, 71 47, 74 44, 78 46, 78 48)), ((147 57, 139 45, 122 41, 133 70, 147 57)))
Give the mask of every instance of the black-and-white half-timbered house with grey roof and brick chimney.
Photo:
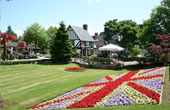
POLYGON ((94 39, 88 33, 88 25, 82 27, 69 25, 68 29, 69 39, 72 42, 72 48, 76 48, 77 52, 87 55, 87 50, 95 48, 94 39))

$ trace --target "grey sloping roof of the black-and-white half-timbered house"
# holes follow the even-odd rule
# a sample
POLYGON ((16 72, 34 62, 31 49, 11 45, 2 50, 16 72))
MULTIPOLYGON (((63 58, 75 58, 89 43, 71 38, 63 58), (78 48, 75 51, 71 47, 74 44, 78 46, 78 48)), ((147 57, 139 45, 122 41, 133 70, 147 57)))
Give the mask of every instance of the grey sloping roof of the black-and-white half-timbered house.
POLYGON ((90 36, 90 34, 83 28, 78 27, 78 26, 72 26, 72 25, 70 25, 70 27, 73 29, 73 31, 76 33, 76 35, 79 37, 81 41, 94 42, 92 36, 90 36))

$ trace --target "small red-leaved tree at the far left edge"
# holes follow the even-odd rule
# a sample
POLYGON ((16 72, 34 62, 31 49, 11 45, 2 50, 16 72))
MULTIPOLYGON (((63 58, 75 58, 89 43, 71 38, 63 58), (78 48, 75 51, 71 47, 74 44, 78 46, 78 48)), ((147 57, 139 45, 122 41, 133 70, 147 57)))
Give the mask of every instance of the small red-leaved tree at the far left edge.
POLYGON ((6 60, 8 59, 8 53, 7 53, 7 41, 12 41, 15 40, 16 36, 10 34, 10 33, 2 33, 0 32, 0 45, 4 46, 4 51, 3 51, 3 55, 2 55, 2 59, 6 60))

